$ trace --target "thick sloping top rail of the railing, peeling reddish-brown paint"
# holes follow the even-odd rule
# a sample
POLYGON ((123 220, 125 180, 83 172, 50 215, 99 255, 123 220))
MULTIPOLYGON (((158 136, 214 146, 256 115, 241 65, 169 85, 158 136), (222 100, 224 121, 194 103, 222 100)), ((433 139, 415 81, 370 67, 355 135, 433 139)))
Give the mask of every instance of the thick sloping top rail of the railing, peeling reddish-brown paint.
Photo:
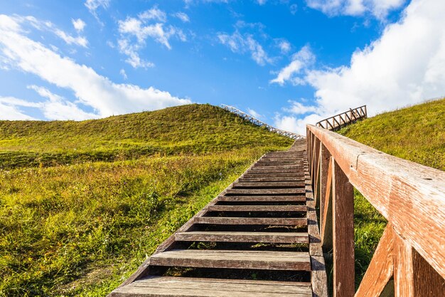
POLYGON ((445 172, 392 157, 335 132, 307 127, 354 187, 445 278, 445 172))

